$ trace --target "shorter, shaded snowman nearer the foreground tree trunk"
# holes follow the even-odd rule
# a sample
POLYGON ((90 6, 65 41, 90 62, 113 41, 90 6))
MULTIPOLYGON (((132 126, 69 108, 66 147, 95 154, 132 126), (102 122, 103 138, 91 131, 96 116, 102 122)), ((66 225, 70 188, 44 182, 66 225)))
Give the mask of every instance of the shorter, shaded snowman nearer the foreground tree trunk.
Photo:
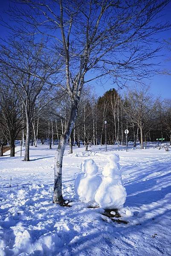
POLYGON ((80 201, 94 202, 96 190, 101 183, 101 177, 96 175, 99 167, 92 159, 81 164, 82 173, 75 179, 75 195, 80 201))

